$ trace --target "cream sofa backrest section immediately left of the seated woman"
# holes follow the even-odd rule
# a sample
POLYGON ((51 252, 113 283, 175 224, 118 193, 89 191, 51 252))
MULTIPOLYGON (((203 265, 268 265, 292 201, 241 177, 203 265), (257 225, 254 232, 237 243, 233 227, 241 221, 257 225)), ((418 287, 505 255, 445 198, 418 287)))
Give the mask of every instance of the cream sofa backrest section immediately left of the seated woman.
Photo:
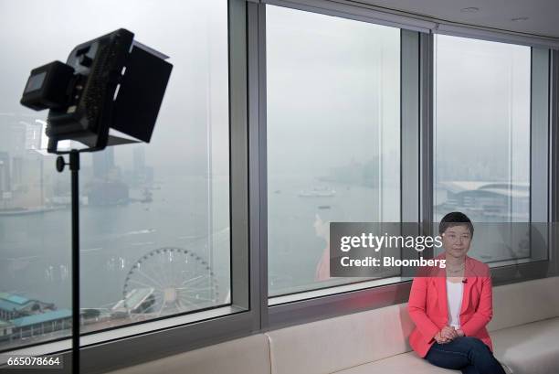
POLYGON ((272 373, 323 374, 410 350, 406 305, 269 331, 272 373))

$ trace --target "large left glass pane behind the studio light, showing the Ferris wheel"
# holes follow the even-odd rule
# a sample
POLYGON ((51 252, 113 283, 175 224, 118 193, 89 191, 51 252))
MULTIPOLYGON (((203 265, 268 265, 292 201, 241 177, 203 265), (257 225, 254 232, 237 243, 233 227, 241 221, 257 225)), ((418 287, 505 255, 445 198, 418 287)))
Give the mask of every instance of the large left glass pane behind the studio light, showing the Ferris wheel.
POLYGON ((174 69, 151 144, 81 157, 82 331, 228 303, 227 0, 25 0, 0 24, 0 349, 71 322, 70 176, 19 104, 29 71, 120 27, 174 69))

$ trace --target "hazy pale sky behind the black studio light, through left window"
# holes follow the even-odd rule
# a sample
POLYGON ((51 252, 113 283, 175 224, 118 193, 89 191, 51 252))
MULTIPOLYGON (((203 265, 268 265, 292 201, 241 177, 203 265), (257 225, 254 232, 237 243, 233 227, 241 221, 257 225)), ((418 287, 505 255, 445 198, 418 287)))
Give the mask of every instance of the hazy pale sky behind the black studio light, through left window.
MULTIPOLYGON (((19 104, 31 69, 55 59, 66 61, 79 43, 121 27, 170 56, 174 65, 152 144, 146 148, 148 163, 184 168, 188 174, 205 170, 211 122, 213 166, 216 173, 227 174, 226 0, 2 0, 0 113, 33 113, 19 104)), ((46 114, 37 112, 37 118, 46 114)), ((118 147, 117 164, 129 163, 131 157, 132 148, 118 147)))

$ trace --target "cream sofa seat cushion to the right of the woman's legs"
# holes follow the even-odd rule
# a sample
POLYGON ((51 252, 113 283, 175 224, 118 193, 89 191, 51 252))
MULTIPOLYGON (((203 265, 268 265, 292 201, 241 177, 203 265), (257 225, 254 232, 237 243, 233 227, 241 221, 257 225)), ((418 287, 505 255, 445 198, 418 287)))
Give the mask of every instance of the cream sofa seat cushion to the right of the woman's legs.
POLYGON ((559 318, 491 333, 495 357, 513 374, 549 374, 559 368, 559 318))

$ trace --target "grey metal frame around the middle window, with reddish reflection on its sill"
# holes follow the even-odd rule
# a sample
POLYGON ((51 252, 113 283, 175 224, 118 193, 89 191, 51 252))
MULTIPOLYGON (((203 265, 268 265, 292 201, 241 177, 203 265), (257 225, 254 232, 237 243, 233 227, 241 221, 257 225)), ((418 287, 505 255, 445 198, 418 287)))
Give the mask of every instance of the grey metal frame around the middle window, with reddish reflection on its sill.
MULTIPOLYGON (((417 115, 418 108, 420 106, 419 102, 419 86, 420 86, 420 75, 421 69, 419 69, 419 56, 420 49, 425 49, 425 40, 421 38, 421 35, 427 35, 425 33, 418 32, 416 30, 409 30, 402 28, 400 24, 394 22, 379 22, 378 19, 372 18, 371 15, 364 16, 363 14, 347 14, 332 11, 332 9, 316 8, 307 5, 294 5, 290 3, 285 5, 283 2, 269 2, 266 4, 254 5, 254 11, 258 12, 259 22, 258 27, 260 30, 260 51, 264 51, 258 55, 258 91, 260 93, 260 122, 258 123, 259 134, 266 134, 266 5, 280 5, 290 7, 300 11, 311 11, 313 13, 319 13, 326 16, 339 16, 343 18, 352 19, 354 21, 368 22, 373 24, 380 24, 390 27, 400 28, 400 217, 401 219, 409 219, 410 221, 417 221, 418 219, 418 168, 417 159, 419 156, 419 119, 417 115), (258 9, 257 9, 258 8, 258 9), (404 95, 406 92, 406 95, 404 95), (405 131, 406 130, 406 131, 405 131), (407 131, 409 130, 409 131, 407 131), (404 143, 406 145, 404 146, 404 143), (406 186, 406 194, 403 196, 403 187, 406 186), (404 200, 405 199, 405 200, 404 200)), ((249 12, 250 12, 249 4, 249 12)), ((250 27, 250 25, 249 25, 250 27)), ((427 81, 424 79, 424 81, 427 81)), ((263 208, 260 210, 260 250, 263 252, 261 258, 267 256, 268 243, 267 243, 267 233, 268 233, 268 211, 267 211, 267 164, 266 164, 266 137, 261 136, 263 141, 259 144, 260 149, 258 155, 261 156, 259 160, 258 171, 261 174, 259 180, 261 183, 259 194, 260 194, 260 204, 263 208), (264 240, 262 240, 264 239, 264 240), (266 253, 266 254, 264 254, 266 253)), ((266 261, 268 259, 266 258, 266 261)), ((263 287, 268 288, 268 263, 261 262, 261 282, 265 282, 263 287), (265 272, 265 273, 262 273, 265 272)), ((354 284, 343 284, 332 287, 327 287, 322 289, 322 293, 326 290, 330 290, 330 294, 315 296, 319 290, 311 290, 308 293, 299 293, 295 301, 280 303, 280 304, 269 304, 267 302, 267 307, 262 310, 262 320, 267 321, 267 325, 263 325, 263 330, 270 330, 280 328, 282 326, 298 325, 305 322, 310 322, 314 320, 319 320, 323 318, 328 318, 336 315, 345 315, 349 313, 355 313, 359 311, 364 311, 368 309, 374 309, 378 307, 383 307, 387 305, 393 305, 398 303, 404 303, 407 301, 407 294, 409 294, 409 289, 411 288, 411 282, 409 280, 404 280, 406 278, 395 277, 394 283, 390 282, 392 278, 378 280, 377 286, 363 288, 363 284, 375 283, 375 281, 368 281, 364 283, 354 283, 354 284), (351 288, 352 291, 344 291, 351 288)), ((262 295, 264 297, 264 294, 262 295)), ((274 298, 281 298, 282 296, 277 296, 274 298)), ((266 300, 269 300, 266 294, 266 300)))

